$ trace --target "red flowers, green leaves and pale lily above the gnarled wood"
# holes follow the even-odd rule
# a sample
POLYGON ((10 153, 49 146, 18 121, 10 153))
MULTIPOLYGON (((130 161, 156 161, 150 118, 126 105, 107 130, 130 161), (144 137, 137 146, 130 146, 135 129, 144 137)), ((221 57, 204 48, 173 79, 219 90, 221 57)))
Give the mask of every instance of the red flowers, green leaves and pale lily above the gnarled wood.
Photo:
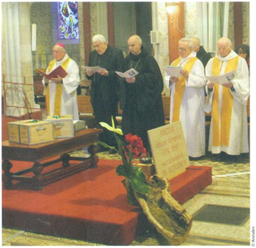
MULTIPOLYGON (((142 169, 136 167, 132 164, 132 159, 147 157, 147 151, 143 147, 143 142, 140 137, 137 135, 127 134, 124 137, 122 129, 117 129, 114 127, 114 119, 112 117, 112 127, 109 124, 104 122, 99 122, 102 127, 105 127, 109 131, 114 132, 114 137, 117 141, 118 150, 117 152, 122 157, 122 164, 119 165, 116 169, 117 175, 124 176, 126 178, 126 187, 128 194, 128 201, 132 202, 132 190, 131 188, 139 193, 148 194, 149 193, 149 184, 147 179, 142 172, 142 169), (129 188, 131 187, 131 188, 129 188)), ((109 145, 99 142, 104 147, 109 147, 109 145)), ((109 147, 115 149, 114 147, 109 147)))

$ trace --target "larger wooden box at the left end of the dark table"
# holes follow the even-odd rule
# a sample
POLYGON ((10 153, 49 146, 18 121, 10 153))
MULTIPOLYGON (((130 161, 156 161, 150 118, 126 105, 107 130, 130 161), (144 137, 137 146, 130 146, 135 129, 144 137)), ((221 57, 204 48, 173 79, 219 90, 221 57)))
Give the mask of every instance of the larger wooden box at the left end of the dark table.
POLYGON ((9 122, 9 142, 41 144, 54 141, 54 130, 48 121, 34 119, 9 122))

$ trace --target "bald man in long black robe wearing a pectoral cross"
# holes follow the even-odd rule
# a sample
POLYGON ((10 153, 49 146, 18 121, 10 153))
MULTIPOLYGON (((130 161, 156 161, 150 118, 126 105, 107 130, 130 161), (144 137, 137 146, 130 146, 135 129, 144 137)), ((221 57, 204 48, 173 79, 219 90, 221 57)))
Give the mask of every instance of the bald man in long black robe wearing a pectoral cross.
POLYGON ((149 151, 147 131, 164 125, 162 74, 157 61, 142 46, 139 36, 131 36, 127 43, 129 55, 124 59, 120 71, 133 68, 139 74, 127 79, 119 78, 122 130, 124 134, 141 137, 149 151))

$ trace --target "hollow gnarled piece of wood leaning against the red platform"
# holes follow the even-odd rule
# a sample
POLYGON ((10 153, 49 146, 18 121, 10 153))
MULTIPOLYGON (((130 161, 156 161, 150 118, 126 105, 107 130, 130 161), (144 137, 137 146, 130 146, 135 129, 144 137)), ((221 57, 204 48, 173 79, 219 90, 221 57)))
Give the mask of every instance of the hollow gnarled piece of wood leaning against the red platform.
POLYGON ((150 178, 149 194, 134 192, 144 214, 172 245, 182 244, 192 227, 192 216, 170 194, 167 179, 150 178))

